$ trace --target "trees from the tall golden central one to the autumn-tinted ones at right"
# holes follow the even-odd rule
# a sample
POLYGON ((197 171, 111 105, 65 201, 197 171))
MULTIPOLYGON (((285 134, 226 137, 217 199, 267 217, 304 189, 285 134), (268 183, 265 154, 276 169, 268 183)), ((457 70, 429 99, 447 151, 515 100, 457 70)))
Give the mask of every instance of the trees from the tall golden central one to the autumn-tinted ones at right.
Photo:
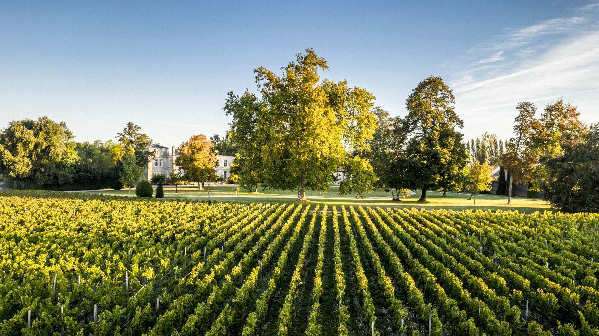
POLYGON ((498 193, 505 193, 508 203, 513 185, 525 184, 530 196, 543 191, 565 209, 551 198, 552 186, 562 182, 552 175, 551 160, 590 141, 575 106, 559 99, 537 119, 534 105, 522 102, 513 138, 485 133, 464 142, 455 98, 441 78, 420 82, 401 118, 374 107, 374 96, 362 88, 320 81, 325 69, 326 60, 308 48, 283 68, 283 75, 255 69, 258 94, 228 94, 224 110, 232 116, 235 173, 243 187, 296 189, 303 200, 305 188, 328 191, 342 166, 341 194, 377 187, 397 194, 409 188, 422 190, 420 201, 426 201, 429 190, 443 191, 443 196, 449 190, 470 190, 471 196, 488 191, 491 166, 499 165, 498 193))

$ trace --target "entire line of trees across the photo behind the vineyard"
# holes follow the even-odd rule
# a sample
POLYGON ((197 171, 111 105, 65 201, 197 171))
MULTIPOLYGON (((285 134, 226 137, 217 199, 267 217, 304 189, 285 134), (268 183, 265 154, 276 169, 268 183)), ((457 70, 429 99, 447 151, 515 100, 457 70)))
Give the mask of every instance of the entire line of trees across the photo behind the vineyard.
MULTIPOLYGON (((429 190, 445 196, 468 189, 472 197, 490 189, 492 165, 501 166, 497 193, 505 193, 508 203, 516 183, 528 184, 531 193, 543 191, 555 206, 568 210, 580 209, 582 200, 591 200, 587 194, 596 191, 586 182, 596 173, 591 168, 597 126, 580 122, 576 107, 562 99, 538 118, 533 103, 519 103, 512 139, 485 133, 464 141, 455 98, 441 78, 420 82, 401 118, 374 107, 373 94, 364 88, 321 81, 319 73, 326 69, 326 60, 312 48, 298 53, 282 75, 255 69, 258 94, 228 93, 223 110, 232 122, 226 136, 195 135, 177 149, 184 178, 199 188, 213 181, 219 152, 236 155, 231 168, 241 187, 297 190, 298 200, 305 200, 307 188, 328 191, 338 167, 345 175, 341 194, 385 187, 396 195, 406 188, 422 190, 420 201, 429 190), (574 163, 583 159, 591 172, 574 173, 580 169, 574 163), (564 181, 569 184, 561 185, 564 181)), ((65 123, 46 117, 13 121, 0 133, 0 170, 9 185, 120 188, 135 184, 150 160, 146 147, 152 140, 133 123, 116 141, 73 138, 65 123)))

